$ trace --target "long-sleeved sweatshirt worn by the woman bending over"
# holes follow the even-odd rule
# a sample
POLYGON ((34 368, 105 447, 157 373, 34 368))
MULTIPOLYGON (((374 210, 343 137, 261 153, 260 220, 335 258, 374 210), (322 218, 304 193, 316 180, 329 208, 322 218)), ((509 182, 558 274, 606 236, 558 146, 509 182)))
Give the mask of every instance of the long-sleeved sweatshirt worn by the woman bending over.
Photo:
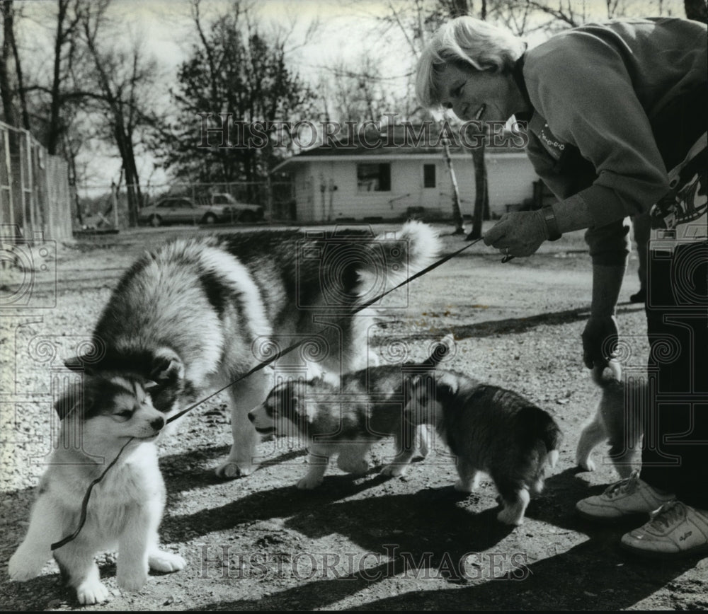
POLYGON ((525 54, 527 154, 556 197, 588 205, 596 264, 623 262, 621 220, 668 192, 652 125, 672 100, 708 87, 707 50, 704 24, 645 18, 566 30, 525 54))

